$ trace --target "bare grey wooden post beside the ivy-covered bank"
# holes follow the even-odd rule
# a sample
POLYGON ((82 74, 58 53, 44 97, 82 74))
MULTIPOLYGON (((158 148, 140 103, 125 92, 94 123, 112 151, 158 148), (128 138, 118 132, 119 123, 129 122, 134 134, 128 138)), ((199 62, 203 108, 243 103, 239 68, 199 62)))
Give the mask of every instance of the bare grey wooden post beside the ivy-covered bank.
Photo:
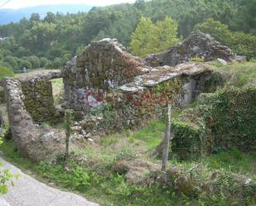
POLYGON ((169 155, 169 144, 171 140, 171 104, 168 105, 167 109, 167 127, 165 137, 162 146, 162 172, 167 171, 167 160, 169 155))

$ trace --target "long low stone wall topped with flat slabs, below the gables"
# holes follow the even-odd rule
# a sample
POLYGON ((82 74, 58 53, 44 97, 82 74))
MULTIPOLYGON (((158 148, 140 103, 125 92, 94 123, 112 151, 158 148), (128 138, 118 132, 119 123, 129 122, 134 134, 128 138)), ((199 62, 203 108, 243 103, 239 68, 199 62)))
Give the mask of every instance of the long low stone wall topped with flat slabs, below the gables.
POLYGON ((209 65, 199 63, 155 68, 108 93, 108 101, 103 95, 98 108, 77 122, 74 130, 87 138, 142 127, 164 117, 167 103, 175 107, 191 103, 205 92, 210 75, 209 65))

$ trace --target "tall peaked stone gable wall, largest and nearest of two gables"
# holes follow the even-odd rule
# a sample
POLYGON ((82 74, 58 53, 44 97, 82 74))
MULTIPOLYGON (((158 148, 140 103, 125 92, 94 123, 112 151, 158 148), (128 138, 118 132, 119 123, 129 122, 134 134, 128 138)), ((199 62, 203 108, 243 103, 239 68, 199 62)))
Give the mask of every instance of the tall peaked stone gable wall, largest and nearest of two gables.
POLYGON ((66 104, 88 112, 88 92, 104 93, 126 84, 147 71, 145 67, 143 60, 130 55, 117 40, 93 41, 63 69, 66 104))

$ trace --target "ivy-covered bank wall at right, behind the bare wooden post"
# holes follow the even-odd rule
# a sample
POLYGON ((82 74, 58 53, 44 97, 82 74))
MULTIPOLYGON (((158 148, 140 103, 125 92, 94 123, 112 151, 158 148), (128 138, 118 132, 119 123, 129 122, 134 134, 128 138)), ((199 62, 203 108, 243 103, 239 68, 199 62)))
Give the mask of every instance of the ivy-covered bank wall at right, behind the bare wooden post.
POLYGON ((233 146, 255 149, 256 89, 227 87, 200 95, 196 107, 187 108, 172 122, 173 151, 190 159, 233 146))

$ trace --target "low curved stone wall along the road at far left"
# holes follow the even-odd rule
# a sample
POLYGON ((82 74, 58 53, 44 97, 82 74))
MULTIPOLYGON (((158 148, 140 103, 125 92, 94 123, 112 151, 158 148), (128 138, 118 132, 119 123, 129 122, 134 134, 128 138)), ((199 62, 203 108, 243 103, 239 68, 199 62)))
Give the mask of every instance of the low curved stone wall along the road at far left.
POLYGON ((63 144, 55 132, 34 123, 27 112, 22 93, 22 84, 18 79, 5 79, 4 91, 12 138, 19 151, 31 160, 46 160, 60 151, 63 144))

